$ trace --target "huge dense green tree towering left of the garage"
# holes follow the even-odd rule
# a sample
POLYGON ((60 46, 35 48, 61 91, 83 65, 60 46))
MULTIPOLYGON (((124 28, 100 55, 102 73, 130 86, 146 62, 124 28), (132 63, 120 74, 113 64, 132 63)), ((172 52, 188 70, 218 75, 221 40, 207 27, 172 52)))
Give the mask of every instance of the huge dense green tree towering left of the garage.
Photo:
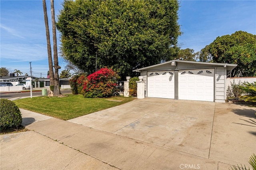
POLYGON ((96 62, 125 76, 168 61, 181 34, 178 8, 178 0, 65 0, 56 23, 62 54, 88 74, 96 62))

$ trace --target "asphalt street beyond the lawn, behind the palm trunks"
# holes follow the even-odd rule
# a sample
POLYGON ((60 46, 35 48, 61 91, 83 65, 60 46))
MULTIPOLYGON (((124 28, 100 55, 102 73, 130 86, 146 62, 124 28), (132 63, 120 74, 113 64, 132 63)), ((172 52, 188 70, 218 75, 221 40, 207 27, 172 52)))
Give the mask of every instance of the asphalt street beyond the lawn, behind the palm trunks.
MULTIPOLYGON (((67 90, 61 90, 60 91, 62 94, 71 94, 72 91, 70 89, 67 90)), ((40 96, 42 95, 42 91, 34 91, 32 92, 32 96, 40 96)), ((30 91, 28 92, 22 92, 22 93, 0 93, 0 98, 5 98, 5 99, 12 99, 15 97, 26 97, 30 96, 30 91)))

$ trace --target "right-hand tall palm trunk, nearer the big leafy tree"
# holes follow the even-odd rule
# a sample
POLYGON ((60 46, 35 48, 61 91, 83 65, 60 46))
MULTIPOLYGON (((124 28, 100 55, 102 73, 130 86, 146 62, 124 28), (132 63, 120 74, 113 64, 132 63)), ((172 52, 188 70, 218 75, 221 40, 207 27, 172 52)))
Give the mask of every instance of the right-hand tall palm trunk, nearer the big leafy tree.
POLYGON ((56 38, 56 25, 55 25, 55 14, 54 14, 54 2, 51 0, 51 13, 52 13, 52 36, 53 36, 53 63, 54 63, 54 96, 61 95, 60 93, 60 82, 59 82, 59 71, 60 66, 58 65, 58 51, 57 51, 57 38, 56 38))

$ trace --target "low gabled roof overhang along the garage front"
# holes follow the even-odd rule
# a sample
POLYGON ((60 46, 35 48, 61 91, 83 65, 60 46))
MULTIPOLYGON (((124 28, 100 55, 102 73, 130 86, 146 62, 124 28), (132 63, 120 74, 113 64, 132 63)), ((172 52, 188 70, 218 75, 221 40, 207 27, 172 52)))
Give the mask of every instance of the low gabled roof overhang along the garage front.
MULTIPOLYGON (((133 72, 141 72, 141 71, 147 71, 147 70, 151 70, 154 69, 154 67, 159 67, 159 66, 163 66, 166 64, 170 64, 172 62, 175 62, 176 66, 178 65, 178 63, 188 63, 188 64, 199 64, 199 65, 204 65, 203 67, 206 67, 207 65, 209 65, 209 67, 226 67, 227 72, 231 71, 232 69, 234 69, 237 64, 226 64, 226 63, 209 63, 209 62, 199 62, 199 61, 184 61, 184 60, 171 60, 171 61, 166 61, 164 63, 160 63, 160 64, 156 64, 156 65, 151 65, 148 67, 144 67, 144 68, 140 68, 140 69, 135 69, 132 70, 133 72)), ((203 68, 202 67, 202 68, 203 68)))

